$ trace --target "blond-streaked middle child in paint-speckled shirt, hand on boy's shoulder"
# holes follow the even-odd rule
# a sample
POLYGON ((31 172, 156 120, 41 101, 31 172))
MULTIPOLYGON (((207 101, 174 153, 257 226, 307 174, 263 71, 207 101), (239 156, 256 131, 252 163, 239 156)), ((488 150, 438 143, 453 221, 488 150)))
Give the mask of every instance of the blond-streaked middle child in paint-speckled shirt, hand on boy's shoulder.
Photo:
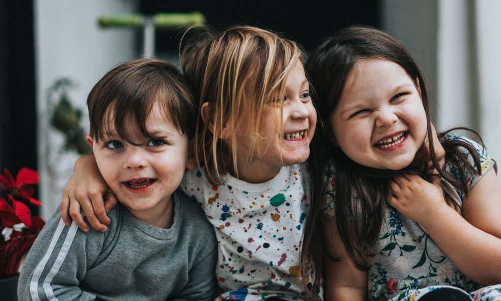
MULTIPOLYGON (((303 52, 269 31, 232 27, 189 40, 181 64, 199 101, 195 150, 203 161, 181 186, 216 229, 216 274, 224 291, 217 299, 305 298, 299 250, 311 183, 303 163, 317 114, 303 52)), ((88 165, 92 157, 79 161, 63 199, 65 218, 68 203, 74 219, 78 202, 84 212, 94 211, 81 201, 89 193, 78 193, 73 182, 105 189, 88 165)), ((104 208, 102 198, 92 201, 96 210, 104 208)))

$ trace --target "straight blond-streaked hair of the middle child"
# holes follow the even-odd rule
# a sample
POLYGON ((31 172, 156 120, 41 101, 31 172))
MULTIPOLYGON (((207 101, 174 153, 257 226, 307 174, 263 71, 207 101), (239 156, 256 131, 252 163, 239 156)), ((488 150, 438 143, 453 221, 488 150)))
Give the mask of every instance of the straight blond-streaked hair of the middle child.
MULTIPOLYGON (((258 133, 267 102, 279 100, 283 107, 287 76, 298 59, 304 62, 304 53, 295 42, 255 27, 193 30, 181 41, 181 66, 199 109, 209 103, 206 120, 199 114, 196 122, 195 156, 207 180, 220 185, 227 172, 238 176, 235 135, 242 110, 249 114, 250 132, 258 133), (231 143, 219 138, 225 127, 232 131, 231 143)), ((259 153, 259 135, 249 139, 250 152, 259 153)))

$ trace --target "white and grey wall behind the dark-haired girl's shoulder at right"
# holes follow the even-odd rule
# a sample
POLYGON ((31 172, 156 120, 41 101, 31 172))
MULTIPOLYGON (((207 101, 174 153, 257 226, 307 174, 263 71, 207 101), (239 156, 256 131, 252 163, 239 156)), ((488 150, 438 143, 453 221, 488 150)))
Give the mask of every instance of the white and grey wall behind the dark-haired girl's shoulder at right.
POLYGON ((470 127, 501 160, 501 2, 383 0, 380 13, 424 70, 436 128, 470 127))

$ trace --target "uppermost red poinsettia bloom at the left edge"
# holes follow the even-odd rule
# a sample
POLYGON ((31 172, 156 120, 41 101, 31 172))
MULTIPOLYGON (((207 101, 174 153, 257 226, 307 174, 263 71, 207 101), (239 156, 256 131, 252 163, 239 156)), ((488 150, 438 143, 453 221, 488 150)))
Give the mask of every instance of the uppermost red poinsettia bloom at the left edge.
POLYGON ((9 170, 4 169, 4 176, 0 176, 0 190, 9 190, 12 196, 18 196, 30 201, 33 205, 42 206, 39 200, 32 198, 35 190, 30 186, 38 184, 39 180, 38 172, 26 167, 19 171, 16 181, 9 170))

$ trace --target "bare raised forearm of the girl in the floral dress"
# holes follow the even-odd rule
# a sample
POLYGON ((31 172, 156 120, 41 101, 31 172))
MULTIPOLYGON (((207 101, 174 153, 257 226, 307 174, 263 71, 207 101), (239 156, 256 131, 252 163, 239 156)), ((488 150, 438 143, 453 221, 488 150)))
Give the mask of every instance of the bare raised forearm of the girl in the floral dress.
POLYGON ((473 281, 484 285, 501 282, 501 239, 471 225, 448 206, 437 209, 421 225, 473 281))

